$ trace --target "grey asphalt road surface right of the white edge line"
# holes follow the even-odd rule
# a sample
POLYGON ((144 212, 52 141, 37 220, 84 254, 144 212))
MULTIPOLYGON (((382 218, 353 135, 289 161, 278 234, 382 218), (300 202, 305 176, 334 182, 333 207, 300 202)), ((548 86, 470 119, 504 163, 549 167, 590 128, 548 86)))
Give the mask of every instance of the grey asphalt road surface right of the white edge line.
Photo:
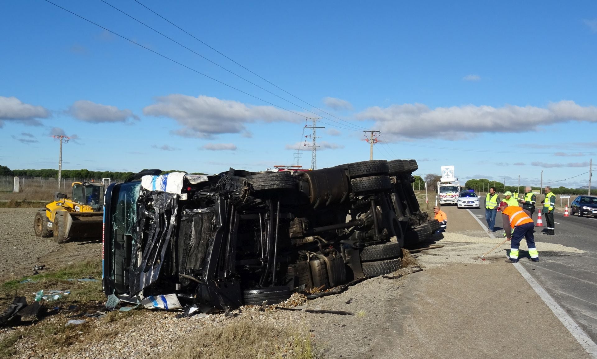
MULTIPOLYGON (((470 210, 482 223, 485 222, 483 205, 479 210, 470 210)), ((538 207, 537 207, 538 209, 538 207)), ((584 253, 561 253, 539 251, 540 262, 534 263, 522 258, 527 271, 568 312, 568 315, 582 327, 594 342, 597 342, 597 219, 593 217, 564 217, 555 213, 556 235, 543 235, 543 227, 536 227, 535 240, 546 243, 575 247, 584 253)), ((537 222, 537 211, 533 215, 537 222)), ((496 237, 501 237, 501 215, 496 216, 496 237)), ((523 240, 524 241, 524 240, 523 240)))

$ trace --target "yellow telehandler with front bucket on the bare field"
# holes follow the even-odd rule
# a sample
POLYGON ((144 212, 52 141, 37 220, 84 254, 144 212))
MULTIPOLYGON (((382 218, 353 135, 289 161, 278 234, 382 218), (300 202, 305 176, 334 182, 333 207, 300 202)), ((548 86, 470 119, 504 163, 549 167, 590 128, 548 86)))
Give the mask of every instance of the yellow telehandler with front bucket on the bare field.
POLYGON ((73 182, 70 200, 57 192, 54 202, 35 214, 35 235, 53 236, 56 243, 66 243, 73 238, 101 238, 103 197, 102 184, 73 182))

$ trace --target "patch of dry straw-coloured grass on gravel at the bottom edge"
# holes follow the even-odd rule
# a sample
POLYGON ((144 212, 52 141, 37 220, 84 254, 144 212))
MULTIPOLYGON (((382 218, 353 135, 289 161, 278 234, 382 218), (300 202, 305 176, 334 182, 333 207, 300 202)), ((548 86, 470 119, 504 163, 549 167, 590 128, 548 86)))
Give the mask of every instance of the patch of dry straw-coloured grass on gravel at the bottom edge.
POLYGON ((172 359, 313 358, 307 330, 239 320, 217 329, 198 330, 190 336, 172 359))

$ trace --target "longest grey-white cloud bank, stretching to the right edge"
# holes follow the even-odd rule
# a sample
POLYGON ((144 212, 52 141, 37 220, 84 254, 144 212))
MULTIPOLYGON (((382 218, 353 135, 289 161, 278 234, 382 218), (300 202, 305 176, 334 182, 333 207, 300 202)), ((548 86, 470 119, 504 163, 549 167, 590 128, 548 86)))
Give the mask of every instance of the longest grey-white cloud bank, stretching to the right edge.
POLYGON ((539 126, 568 121, 597 122, 597 108, 580 106, 574 101, 550 103, 547 108, 466 105, 430 109, 420 103, 407 103, 387 108, 374 106, 358 113, 356 118, 376 121, 373 127, 388 139, 421 139, 450 134, 517 133, 521 128, 536 130, 539 126))

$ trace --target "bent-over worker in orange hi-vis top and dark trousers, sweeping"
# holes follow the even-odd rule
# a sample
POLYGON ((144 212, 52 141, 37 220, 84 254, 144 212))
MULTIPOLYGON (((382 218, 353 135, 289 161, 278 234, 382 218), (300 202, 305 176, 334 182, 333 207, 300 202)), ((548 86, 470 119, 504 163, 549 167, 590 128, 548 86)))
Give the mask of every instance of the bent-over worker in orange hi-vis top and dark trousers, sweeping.
POLYGON ((518 247, 522 237, 527 240, 528 254, 530 254, 531 260, 538 262, 539 252, 535 248, 535 238, 533 237, 535 223, 530 217, 531 213, 518 206, 510 207, 506 202, 500 202, 497 210, 502 213, 504 231, 510 240, 510 262, 518 263, 518 247), (514 232, 513 235, 512 232, 514 232))

